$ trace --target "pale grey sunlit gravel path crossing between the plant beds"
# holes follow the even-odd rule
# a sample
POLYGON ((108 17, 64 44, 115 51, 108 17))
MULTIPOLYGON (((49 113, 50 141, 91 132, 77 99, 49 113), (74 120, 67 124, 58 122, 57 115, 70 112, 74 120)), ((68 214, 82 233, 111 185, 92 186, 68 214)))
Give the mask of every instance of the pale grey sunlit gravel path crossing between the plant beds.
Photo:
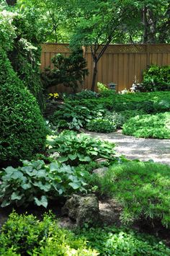
POLYGON ((153 159, 154 162, 170 164, 170 139, 135 138, 125 136, 121 131, 115 133, 86 132, 86 134, 117 144, 115 147, 117 154, 122 154, 127 159, 143 161, 153 159))

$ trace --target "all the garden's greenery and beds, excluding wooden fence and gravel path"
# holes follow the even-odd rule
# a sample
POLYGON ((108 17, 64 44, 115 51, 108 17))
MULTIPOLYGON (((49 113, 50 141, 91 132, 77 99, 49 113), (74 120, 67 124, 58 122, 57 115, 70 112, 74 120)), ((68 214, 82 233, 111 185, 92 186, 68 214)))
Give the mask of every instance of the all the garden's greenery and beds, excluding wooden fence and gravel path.
MULTIPOLYGON (((96 36, 106 48, 140 42, 130 10, 139 21, 143 5, 155 15, 162 4, 166 15, 169 3, 112 4, 1 1, 0 255, 170 255, 170 165, 128 159, 100 138, 119 131, 166 141, 170 157, 170 66, 148 66, 121 92, 95 74, 96 36), (72 53, 40 71, 41 45, 55 41, 69 41, 72 53), (79 90, 89 71, 78 43, 94 45, 91 89, 79 90), (72 92, 52 93, 56 84, 72 92)), ((155 40, 168 44, 161 17, 155 40)))

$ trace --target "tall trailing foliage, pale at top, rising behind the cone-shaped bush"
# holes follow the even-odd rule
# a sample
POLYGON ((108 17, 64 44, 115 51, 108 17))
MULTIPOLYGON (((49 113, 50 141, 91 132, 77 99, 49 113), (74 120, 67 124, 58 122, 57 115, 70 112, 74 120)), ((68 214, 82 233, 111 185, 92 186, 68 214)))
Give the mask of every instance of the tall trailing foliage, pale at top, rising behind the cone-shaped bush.
POLYGON ((42 84, 40 81, 40 43, 41 33, 37 25, 37 13, 32 9, 9 9, 1 12, 1 47, 6 51, 12 68, 22 79, 24 87, 37 98, 44 107, 42 84))

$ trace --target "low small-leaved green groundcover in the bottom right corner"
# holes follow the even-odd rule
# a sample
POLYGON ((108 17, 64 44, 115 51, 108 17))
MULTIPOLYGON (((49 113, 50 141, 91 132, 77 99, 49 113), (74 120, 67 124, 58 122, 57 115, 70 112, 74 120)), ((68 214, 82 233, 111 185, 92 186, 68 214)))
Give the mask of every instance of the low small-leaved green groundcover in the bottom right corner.
POLYGON ((87 245, 102 256, 169 255, 169 247, 154 237, 116 227, 81 229, 79 237, 87 239, 87 245))

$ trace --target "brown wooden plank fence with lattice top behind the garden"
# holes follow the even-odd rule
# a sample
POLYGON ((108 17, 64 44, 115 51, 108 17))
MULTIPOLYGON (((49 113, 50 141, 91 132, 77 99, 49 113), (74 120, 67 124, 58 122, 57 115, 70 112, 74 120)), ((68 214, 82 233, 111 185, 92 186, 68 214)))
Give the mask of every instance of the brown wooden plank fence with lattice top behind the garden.
MULTIPOLYGON (((48 43, 42 45, 41 69, 52 66, 50 60, 56 53, 68 56, 70 53, 68 44, 48 43)), ((89 47, 84 47, 84 56, 89 76, 86 76, 83 89, 90 89, 93 59, 89 47)), ((117 91, 129 89, 135 79, 138 82, 142 81, 143 70, 151 64, 170 65, 170 44, 109 45, 98 62, 97 81, 104 84, 113 82, 117 84, 117 91)), ((57 86, 51 88, 50 91, 68 92, 68 88, 57 86)))

